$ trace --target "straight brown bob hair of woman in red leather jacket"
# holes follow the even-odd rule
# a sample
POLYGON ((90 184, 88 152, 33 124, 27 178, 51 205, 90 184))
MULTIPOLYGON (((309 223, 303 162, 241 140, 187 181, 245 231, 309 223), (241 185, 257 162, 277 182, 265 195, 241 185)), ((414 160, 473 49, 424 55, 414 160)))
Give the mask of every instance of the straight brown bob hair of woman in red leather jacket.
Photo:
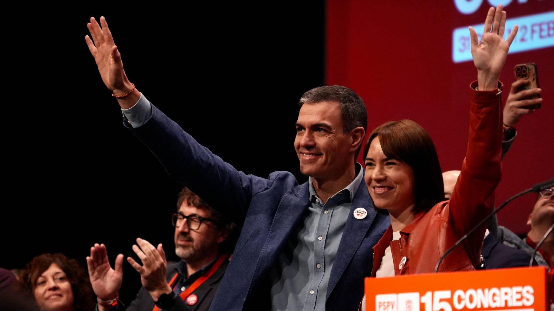
MULTIPOLYGON (((404 119, 383 123, 370 134, 363 149, 364 159, 371 141, 379 137, 384 155, 402 161, 414 171, 414 197, 416 205, 413 213, 427 212, 435 204, 444 200, 444 184, 437 150, 429 133, 421 125, 404 119)), ((378 210, 379 212, 386 212, 378 210)))

